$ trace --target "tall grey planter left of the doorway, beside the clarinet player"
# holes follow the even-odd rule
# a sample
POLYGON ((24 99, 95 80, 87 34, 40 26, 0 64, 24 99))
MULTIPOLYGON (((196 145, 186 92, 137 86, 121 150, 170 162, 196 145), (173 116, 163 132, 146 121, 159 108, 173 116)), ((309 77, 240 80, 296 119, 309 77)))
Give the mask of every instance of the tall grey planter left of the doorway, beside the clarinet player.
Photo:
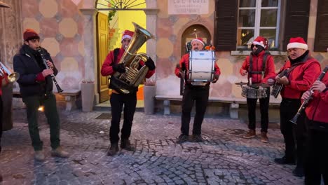
POLYGON ((95 81, 83 80, 81 83, 82 111, 93 111, 95 81))

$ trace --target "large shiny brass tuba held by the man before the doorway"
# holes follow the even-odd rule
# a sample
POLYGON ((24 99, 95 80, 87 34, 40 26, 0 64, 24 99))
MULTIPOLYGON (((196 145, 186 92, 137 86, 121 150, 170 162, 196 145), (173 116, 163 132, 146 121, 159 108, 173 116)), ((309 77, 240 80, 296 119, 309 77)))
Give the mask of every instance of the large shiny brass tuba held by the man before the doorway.
POLYGON ((123 63, 125 73, 116 72, 111 76, 109 88, 119 93, 129 94, 137 90, 138 85, 144 80, 149 71, 146 65, 139 67, 140 60, 146 62, 149 56, 146 53, 137 53, 137 50, 148 40, 154 39, 154 36, 146 29, 140 27, 135 22, 135 34, 133 34, 130 44, 125 48, 125 52, 118 64, 123 63))

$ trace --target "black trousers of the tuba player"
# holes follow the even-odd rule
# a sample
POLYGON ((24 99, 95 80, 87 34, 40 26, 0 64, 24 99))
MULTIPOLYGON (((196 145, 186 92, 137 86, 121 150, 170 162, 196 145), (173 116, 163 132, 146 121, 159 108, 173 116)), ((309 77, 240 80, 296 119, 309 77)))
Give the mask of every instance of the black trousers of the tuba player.
POLYGON ((117 143, 120 139, 121 113, 124 104, 124 121, 121 130, 121 139, 128 139, 131 135, 133 116, 135 115, 135 107, 137 105, 137 93, 128 95, 111 94, 111 128, 109 130, 109 139, 111 143, 117 143))

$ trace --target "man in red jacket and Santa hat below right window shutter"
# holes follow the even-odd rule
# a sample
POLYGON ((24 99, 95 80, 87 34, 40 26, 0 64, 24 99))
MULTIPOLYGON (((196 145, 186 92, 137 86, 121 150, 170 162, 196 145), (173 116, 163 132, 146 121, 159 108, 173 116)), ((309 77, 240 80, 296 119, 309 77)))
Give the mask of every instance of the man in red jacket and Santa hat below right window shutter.
POLYGON ((303 177, 303 159, 306 143, 306 128, 303 116, 297 125, 290 120, 301 106, 301 95, 310 88, 321 72, 320 63, 310 56, 308 45, 301 37, 291 38, 287 45, 288 58, 280 71, 289 69, 287 76, 276 76, 275 80, 284 85, 280 92, 280 131, 285 139, 285 156, 275 158, 278 164, 294 164, 293 174, 303 177), (296 141, 295 141, 296 138, 296 141))

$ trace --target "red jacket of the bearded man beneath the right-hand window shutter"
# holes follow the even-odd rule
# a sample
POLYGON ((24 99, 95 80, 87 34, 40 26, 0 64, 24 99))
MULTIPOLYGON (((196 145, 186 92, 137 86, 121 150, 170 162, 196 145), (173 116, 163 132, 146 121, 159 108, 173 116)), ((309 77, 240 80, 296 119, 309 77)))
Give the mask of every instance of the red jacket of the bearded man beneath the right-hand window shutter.
POLYGON ((280 71, 294 65, 296 67, 288 75, 289 85, 284 85, 280 92, 282 98, 301 99, 302 94, 310 88, 321 72, 320 63, 313 57, 308 57, 305 62, 298 62, 292 66, 287 60, 280 71))

